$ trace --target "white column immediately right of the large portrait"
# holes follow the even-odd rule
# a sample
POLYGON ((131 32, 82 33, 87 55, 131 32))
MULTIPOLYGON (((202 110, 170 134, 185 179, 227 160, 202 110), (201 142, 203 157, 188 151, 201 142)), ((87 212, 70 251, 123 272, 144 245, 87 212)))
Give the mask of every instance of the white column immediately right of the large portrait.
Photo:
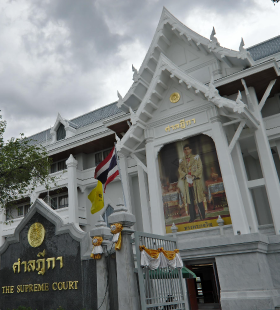
POLYGON ((241 234, 250 233, 232 158, 228 151, 228 143, 220 122, 220 117, 217 115, 216 107, 210 108, 208 112, 210 115, 213 115, 210 117, 213 129, 213 139, 222 173, 233 232, 235 235, 237 234, 237 230, 239 230, 241 234))

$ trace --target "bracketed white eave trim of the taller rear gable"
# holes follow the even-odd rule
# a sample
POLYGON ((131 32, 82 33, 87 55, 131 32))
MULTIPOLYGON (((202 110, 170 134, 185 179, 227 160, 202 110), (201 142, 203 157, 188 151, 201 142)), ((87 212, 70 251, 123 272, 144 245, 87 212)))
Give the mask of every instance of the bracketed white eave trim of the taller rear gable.
POLYGON ((140 68, 137 70, 132 65, 133 84, 125 96, 123 98, 119 97, 117 102, 117 106, 124 112, 128 112, 129 107, 135 110, 140 105, 152 76, 155 74, 160 53, 167 55, 168 48, 172 44, 173 34, 195 50, 202 52, 204 55, 211 54, 216 60, 226 63, 229 67, 237 65, 246 68, 254 65, 250 53, 243 47, 243 39, 241 39, 238 51, 222 47, 214 36, 214 28, 209 40, 186 27, 163 7, 155 34, 140 68))

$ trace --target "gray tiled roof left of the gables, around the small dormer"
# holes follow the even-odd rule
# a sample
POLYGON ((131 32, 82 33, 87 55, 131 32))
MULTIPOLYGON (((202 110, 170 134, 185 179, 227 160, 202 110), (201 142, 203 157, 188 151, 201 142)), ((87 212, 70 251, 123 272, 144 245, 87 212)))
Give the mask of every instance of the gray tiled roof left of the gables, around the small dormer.
MULTIPOLYGON (((71 127, 74 127, 77 129, 77 128, 81 128, 83 126, 89 125, 95 121, 101 120, 103 118, 110 117, 112 115, 121 113, 122 111, 116 106, 116 102, 110 103, 108 105, 97 108, 96 110, 93 110, 86 114, 70 119, 69 124, 71 127)), ((28 139, 33 140, 30 144, 37 144, 37 143, 44 142, 46 140, 46 134, 47 134, 47 139, 48 140, 51 139, 51 134, 49 133, 49 131, 50 129, 46 129, 46 130, 43 130, 41 132, 38 132, 36 134, 29 136, 28 139)))

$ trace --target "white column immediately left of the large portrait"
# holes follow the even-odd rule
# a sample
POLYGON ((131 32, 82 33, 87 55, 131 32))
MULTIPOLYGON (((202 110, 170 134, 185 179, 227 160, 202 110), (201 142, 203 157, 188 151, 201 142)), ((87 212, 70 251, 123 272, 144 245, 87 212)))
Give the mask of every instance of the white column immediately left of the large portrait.
POLYGON ((161 189, 158 188, 158 161, 152 145, 153 137, 150 130, 145 130, 146 162, 148 170, 148 188, 150 202, 151 232, 163 235, 166 233, 161 189))

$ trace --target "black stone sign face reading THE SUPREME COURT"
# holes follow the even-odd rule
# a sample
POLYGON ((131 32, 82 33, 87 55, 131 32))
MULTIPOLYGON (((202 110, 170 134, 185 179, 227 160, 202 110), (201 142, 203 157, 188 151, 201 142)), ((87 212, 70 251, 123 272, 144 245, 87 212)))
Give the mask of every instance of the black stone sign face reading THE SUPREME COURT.
POLYGON ((95 260, 81 260, 80 242, 69 233, 56 235, 55 225, 34 212, 19 232, 19 242, 10 243, 0 254, 0 310, 19 305, 29 306, 32 310, 56 310, 59 306, 65 310, 96 310, 96 304, 95 260), (30 246, 27 239, 28 229, 34 222, 41 223, 45 229, 43 242, 38 247, 30 246), (61 258, 56 259, 60 256, 62 267, 61 258), (13 263, 18 262, 18 258, 20 272, 17 266, 14 272, 13 263), (38 266, 38 259, 44 259, 43 274, 38 274, 42 267, 42 261, 38 266), (35 260, 34 271, 29 260, 35 260), (30 271, 26 268, 24 272, 25 264, 30 271))

